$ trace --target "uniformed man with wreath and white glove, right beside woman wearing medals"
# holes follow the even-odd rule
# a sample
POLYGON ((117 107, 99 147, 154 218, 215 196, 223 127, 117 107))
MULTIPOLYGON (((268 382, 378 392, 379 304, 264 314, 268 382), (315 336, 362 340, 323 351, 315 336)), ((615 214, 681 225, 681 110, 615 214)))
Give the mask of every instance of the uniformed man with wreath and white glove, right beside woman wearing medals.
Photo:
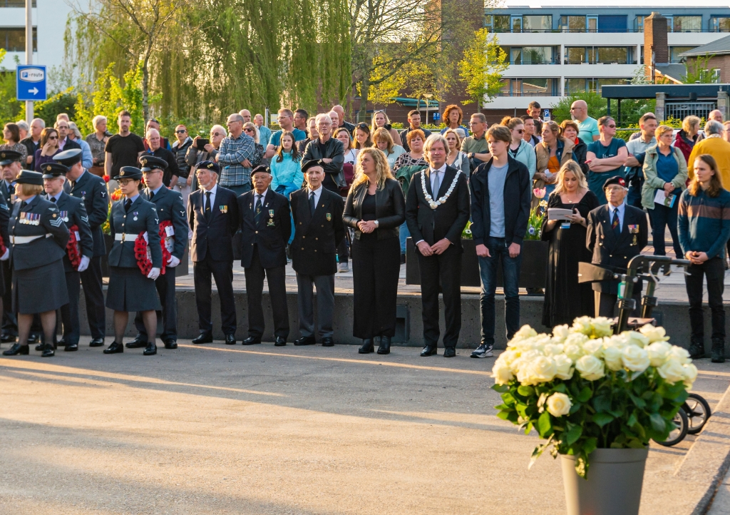
MULTIPOLYGON (((80 152, 80 150, 77 149, 80 152)), ((63 164, 53 161, 41 165, 43 187, 46 198, 58 207, 58 216, 69 228, 69 244, 64 255, 66 289, 69 303, 61 306, 61 321, 64 324, 64 337, 61 345, 64 351, 77 351, 81 333, 79 324, 80 273, 86 270, 93 255, 93 240, 88 224, 86 208, 81 199, 64 192, 66 172, 63 164)), ((37 350, 40 350, 36 347, 37 350)))

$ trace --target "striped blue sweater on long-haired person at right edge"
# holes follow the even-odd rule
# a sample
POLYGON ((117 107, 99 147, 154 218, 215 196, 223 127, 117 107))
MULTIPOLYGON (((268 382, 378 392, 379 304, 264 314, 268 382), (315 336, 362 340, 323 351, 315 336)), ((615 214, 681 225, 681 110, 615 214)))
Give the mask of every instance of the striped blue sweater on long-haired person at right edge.
POLYGON ((680 197, 677 229, 683 253, 707 253, 708 258, 725 259, 725 244, 730 237, 730 191, 721 189, 717 197, 705 191, 697 196, 686 189, 680 197))

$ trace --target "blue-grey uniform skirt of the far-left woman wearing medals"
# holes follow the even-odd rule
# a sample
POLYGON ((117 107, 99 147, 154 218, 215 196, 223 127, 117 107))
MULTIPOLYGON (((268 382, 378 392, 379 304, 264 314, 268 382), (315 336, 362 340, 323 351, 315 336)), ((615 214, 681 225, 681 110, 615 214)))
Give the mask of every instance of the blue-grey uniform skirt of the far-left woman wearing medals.
POLYGON ((69 303, 64 260, 42 267, 12 271, 12 311, 34 315, 61 308, 69 303))

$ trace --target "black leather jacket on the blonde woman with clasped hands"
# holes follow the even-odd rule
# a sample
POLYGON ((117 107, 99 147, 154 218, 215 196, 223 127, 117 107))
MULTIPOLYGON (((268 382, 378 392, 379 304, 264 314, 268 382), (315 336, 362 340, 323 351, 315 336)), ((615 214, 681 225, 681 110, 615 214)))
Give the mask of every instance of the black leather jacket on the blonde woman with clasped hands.
MULTIPOLYGON (((342 220, 347 226, 355 229, 355 237, 359 240, 362 231, 358 229, 358 221, 363 218, 363 202, 367 194, 369 183, 358 184, 350 189, 345 202, 345 214, 342 220)), ((375 191, 375 216, 378 221, 378 240, 385 238, 397 238, 398 228, 406 220, 406 200, 403 198, 403 190, 400 183, 395 179, 385 179, 385 186, 382 190, 375 191)))

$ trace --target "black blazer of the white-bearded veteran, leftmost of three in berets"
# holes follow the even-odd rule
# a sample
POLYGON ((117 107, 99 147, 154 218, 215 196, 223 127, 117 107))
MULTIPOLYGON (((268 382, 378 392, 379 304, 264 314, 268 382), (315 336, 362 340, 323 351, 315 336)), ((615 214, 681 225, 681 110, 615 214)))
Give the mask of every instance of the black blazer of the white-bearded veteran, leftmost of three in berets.
POLYGON ((210 220, 205 219, 205 190, 197 189, 188 197, 188 226, 193 229, 190 255, 193 262, 203 261, 207 253, 213 261, 233 262, 233 235, 239 226, 236 194, 216 186, 210 220))

